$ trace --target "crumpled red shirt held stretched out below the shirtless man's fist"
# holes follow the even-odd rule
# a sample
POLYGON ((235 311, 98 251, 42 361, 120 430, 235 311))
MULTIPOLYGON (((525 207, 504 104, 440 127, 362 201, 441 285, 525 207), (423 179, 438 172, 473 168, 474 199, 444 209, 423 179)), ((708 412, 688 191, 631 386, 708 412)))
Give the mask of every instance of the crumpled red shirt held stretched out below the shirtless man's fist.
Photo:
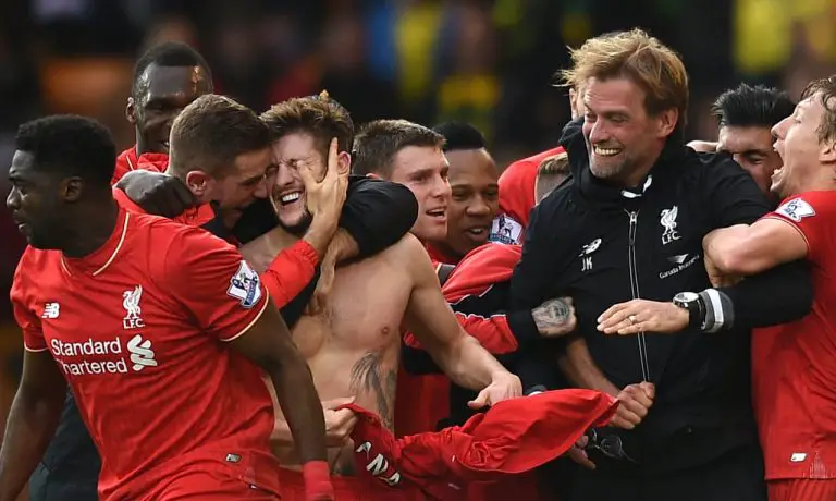
POLYGON ((369 481, 454 501, 465 499, 467 482, 528 472, 564 454, 587 429, 608 424, 617 406, 598 391, 548 391, 499 402, 460 427, 402 439, 362 407, 340 408, 358 415, 355 461, 369 481))

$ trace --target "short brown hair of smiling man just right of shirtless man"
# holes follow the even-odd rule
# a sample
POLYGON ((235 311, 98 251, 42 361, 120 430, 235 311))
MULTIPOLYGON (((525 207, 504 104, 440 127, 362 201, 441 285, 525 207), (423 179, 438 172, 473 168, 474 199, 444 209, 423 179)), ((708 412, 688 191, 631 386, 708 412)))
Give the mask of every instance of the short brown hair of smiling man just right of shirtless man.
POLYGON ((392 160, 409 146, 441 149, 444 136, 432 129, 407 120, 376 120, 362 127, 354 138, 353 171, 358 175, 392 174, 392 160))

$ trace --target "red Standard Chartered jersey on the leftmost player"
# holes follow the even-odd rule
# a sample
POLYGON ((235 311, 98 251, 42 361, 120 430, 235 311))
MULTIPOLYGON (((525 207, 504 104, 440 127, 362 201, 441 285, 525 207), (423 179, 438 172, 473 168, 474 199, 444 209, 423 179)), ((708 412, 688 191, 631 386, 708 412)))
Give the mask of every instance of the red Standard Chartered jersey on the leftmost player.
POLYGON ((161 499, 194 471, 278 491, 270 395, 225 344, 272 306, 234 247, 120 209, 84 258, 28 247, 11 296, 26 350, 48 350, 72 386, 101 454, 101 499, 161 499))

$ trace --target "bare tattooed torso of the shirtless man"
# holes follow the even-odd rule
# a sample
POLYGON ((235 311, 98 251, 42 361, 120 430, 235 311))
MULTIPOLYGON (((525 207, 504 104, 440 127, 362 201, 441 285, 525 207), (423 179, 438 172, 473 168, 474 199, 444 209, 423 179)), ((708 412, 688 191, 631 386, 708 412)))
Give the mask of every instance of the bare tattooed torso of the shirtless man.
MULTIPOLYGON (((274 239, 272 239, 275 242, 274 239)), ((283 247, 295 237, 287 237, 283 247)), ((362 261, 337 268, 334 284, 322 311, 303 316, 292 330, 296 345, 308 362, 322 401, 354 396, 355 403, 381 416, 392 429, 395 381, 401 346, 401 325, 411 293, 411 278, 398 262, 398 247, 362 261)), ((242 248, 256 262, 265 256, 259 241, 242 248)), ((275 255, 274 253, 272 254, 275 255)), ((276 419, 283 420, 276 405, 276 419)), ((337 475, 355 474, 352 444, 329 451, 329 463, 337 475)), ((288 467, 299 464, 292 447, 274 447, 288 467)))

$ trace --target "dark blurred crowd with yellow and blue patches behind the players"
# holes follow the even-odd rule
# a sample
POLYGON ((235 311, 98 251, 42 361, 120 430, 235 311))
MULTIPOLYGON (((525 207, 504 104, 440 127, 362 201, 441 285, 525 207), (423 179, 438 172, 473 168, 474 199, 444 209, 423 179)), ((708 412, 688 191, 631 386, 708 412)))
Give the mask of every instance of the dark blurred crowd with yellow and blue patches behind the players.
MULTIPOLYGON (((741 81, 798 98, 835 73, 836 0, 3 0, 0 188, 15 129, 38 115, 93 115, 131 146, 133 63, 165 40, 197 48, 217 91, 256 111, 324 88, 356 122, 471 122, 504 167, 556 144, 566 46, 636 26, 685 60, 690 139, 716 136, 711 102, 741 81)), ((0 423, 20 370, 8 290, 23 247, 3 205, 0 423)))

